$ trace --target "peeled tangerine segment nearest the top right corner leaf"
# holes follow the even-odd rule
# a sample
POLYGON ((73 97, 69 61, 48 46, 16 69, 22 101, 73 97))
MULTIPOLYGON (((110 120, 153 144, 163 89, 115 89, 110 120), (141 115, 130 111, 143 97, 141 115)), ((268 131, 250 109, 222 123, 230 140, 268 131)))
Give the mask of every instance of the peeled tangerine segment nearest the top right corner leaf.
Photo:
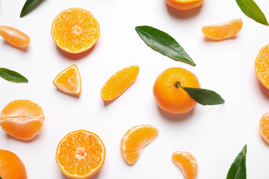
POLYGON ((210 39, 222 40, 235 36, 242 28, 242 19, 232 19, 230 21, 203 26, 201 31, 210 39))

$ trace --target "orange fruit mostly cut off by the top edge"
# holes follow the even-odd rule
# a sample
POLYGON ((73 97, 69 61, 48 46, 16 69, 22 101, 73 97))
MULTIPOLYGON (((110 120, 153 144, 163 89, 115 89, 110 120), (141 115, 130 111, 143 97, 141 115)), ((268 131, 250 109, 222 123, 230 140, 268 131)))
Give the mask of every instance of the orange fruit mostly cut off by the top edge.
POLYGON ((177 10, 190 10, 200 6, 204 0, 166 0, 166 3, 177 10))

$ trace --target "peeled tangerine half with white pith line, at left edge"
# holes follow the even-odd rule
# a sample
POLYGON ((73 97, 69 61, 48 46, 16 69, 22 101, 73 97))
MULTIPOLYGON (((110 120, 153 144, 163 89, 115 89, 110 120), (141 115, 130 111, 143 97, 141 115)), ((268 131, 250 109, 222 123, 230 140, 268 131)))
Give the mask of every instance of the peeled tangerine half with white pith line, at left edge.
POLYGON ((30 100, 15 100, 3 108, 0 125, 6 133, 22 140, 29 140, 39 134, 45 116, 43 109, 30 100))

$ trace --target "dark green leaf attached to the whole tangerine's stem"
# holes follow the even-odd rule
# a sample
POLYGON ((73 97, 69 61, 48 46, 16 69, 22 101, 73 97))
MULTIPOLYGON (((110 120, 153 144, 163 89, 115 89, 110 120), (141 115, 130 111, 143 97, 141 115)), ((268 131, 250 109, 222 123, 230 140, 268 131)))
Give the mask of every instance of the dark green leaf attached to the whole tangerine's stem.
POLYGON ((225 101, 219 94, 208 89, 182 87, 191 98, 201 105, 220 105, 225 101))

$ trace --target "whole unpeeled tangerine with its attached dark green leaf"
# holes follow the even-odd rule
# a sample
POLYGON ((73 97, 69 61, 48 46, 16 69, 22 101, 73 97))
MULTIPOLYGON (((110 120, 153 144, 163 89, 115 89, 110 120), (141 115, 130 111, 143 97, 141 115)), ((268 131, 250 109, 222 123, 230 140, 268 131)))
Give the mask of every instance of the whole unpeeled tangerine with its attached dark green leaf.
POLYGON ((153 86, 157 105, 171 114, 190 112, 197 103, 201 105, 220 105, 223 98, 209 89, 201 89, 192 72, 182 67, 170 67, 157 77, 153 86))

